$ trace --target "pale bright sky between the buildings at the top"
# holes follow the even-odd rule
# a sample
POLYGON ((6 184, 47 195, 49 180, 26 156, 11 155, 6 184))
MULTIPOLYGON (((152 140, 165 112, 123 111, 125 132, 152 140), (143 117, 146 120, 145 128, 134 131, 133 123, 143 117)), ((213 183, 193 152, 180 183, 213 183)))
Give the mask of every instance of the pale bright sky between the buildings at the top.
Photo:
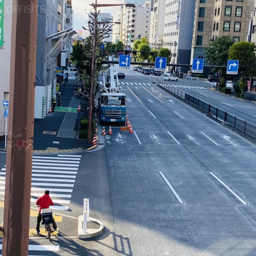
MULTIPOLYGON (((74 30, 82 29, 82 26, 87 27, 88 21, 88 12, 93 10, 92 6, 89 6, 89 3, 93 3, 93 0, 72 0, 72 8, 74 10, 74 30)), ((119 4, 120 0, 98 0, 97 4, 119 4)), ((97 10, 101 12, 108 12, 114 15, 114 7, 102 7, 97 10)))

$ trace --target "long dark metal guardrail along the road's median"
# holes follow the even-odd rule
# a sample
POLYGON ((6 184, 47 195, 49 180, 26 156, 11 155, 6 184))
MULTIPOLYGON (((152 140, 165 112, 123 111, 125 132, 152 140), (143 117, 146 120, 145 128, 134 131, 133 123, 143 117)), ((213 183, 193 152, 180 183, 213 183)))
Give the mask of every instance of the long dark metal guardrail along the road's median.
POLYGON ((216 118, 216 120, 228 124, 232 128, 256 140, 256 126, 254 124, 251 124, 243 119, 240 119, 237 116, 229 114, 228 112, 221 110, 220 108, 212 106, 211 104, 204 102, 203 100, 200 100, 199 98, 196 98, 186 92, 183 92, 182 90, 179 90, 174 86, 166 84, 165 82, 158 80, 157 85, 161 86, 162 88, 174 94, 175 96, 181 98, 185 102, 192 104, 194 107, 202 110, 210 116, 216 118))

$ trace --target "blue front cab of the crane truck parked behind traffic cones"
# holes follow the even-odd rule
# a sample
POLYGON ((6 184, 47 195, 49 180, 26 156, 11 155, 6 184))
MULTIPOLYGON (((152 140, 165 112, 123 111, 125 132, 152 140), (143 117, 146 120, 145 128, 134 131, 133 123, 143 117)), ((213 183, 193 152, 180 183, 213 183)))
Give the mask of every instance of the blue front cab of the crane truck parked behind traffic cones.
POLYGON ((120 92, 102 92, 98 98, 100 124, 103 122, 126 121, 125 94, 120 92))

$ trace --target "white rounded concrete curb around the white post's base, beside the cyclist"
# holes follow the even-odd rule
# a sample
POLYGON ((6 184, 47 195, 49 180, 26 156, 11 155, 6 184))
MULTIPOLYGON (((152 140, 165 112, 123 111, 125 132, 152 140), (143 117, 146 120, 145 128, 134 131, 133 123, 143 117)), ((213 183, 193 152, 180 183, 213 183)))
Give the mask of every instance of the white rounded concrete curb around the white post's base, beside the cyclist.
POLYGON ((83 222, 84 222, 83 216, 82 215, 78 216, 78 239, 92 238, 92 237, 99 236, 103 233, 104 224, 101 221, 94 219, 94 218, 89 218, 89 220, 91 222, 95 222, 95 223, 99 224, 100 227, 97 229, 96 228, 87 228, 86 233, 84 233, 83 232, 83 222))

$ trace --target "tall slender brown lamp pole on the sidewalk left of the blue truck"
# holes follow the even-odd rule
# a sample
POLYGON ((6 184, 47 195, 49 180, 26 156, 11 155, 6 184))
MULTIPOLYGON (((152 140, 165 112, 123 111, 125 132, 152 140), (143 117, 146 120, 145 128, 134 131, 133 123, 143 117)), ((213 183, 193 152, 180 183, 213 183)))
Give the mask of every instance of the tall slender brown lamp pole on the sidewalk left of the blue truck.
POLYGON ((92 114, 93 114, 93 90, 94 90, 94 68, 95 68, 95 51, 96 51, 96 26, 97 26, 97 0, 94 4, 94 26, 93 26, 93 39, 92 39, 92 65, 91 65, 91 78, 90 78, 90 100, 89 100, 89 116, 88 116, 88 144, 92 139, 92 114))

